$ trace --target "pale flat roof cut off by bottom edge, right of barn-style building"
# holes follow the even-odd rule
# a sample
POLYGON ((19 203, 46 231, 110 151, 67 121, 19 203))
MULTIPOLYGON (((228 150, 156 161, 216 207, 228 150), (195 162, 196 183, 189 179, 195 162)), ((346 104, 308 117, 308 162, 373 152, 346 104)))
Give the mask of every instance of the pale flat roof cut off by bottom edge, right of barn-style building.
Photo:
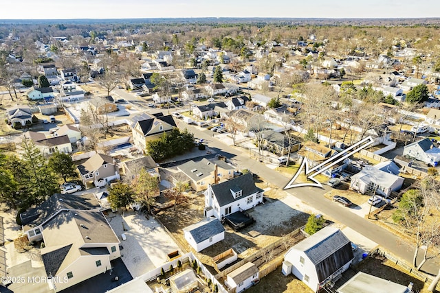
MULTIPOLYGON (((384 276, 385 277, 385 276, 384 276)), ((344 285, 340 286, 337 293, 377 293, 377 292, 393 292, 393 293, 412 293, 412 283, 408 286, 394 283, 388 279, 382 279, 372 274, 358 272, 344 285)))

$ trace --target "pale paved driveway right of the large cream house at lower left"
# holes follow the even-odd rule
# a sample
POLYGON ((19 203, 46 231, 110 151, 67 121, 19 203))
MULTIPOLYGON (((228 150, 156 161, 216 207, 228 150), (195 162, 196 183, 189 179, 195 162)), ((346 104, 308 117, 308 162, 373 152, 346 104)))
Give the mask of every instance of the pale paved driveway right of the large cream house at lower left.
POLYGON ((147 220, 143 213, 126 211, 124 217, 120 213, 109 213, 107 220, 120 239, 121 258, 133 278, 162 266, 168 253, 179 250, 153 217, 147 220), (121 239, 122 233, 125 241, 121 239))

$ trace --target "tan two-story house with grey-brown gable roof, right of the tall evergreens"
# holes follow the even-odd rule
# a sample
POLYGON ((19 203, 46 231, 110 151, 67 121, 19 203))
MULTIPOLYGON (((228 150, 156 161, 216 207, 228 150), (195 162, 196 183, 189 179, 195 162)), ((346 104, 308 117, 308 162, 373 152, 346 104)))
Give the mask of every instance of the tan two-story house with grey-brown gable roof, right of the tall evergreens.
POLYGON ((94 154, 77 168, 85 186, 91 182, 101 187, 120 179, 118 163, 107 154, 94 154))

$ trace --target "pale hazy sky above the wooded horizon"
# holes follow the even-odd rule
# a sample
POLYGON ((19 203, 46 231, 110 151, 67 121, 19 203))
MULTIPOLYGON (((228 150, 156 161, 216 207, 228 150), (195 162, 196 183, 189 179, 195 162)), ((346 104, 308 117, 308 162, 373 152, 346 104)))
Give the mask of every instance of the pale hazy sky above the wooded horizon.
POLYGON ((438 0, 1 0, 0 19, 439 17, 438 0))

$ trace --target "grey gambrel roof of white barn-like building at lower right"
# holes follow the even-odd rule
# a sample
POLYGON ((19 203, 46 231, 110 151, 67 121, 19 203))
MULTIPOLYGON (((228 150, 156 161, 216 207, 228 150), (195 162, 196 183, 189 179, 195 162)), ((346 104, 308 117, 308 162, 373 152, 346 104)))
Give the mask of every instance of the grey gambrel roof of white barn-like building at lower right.
POLYGON ((322 228, 291 249, 305 253, 314 264, 319 281, 324 281, 353 259, 350 240, 338 228, 331 226, 322 228))

